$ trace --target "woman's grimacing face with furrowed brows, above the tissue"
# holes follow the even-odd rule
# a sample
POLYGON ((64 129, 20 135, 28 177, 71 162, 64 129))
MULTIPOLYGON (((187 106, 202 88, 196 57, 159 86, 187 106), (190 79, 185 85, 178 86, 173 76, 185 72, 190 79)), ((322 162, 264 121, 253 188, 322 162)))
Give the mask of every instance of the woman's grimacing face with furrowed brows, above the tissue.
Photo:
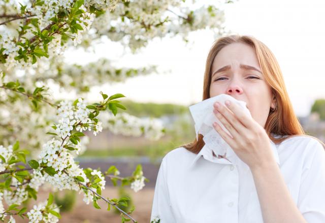
POLYGON ((211 74, 210 97, 228 94, 245 101, 252 118, 264 128, 275 99, 253 48, 243 43, 225 46, 214 58, 211 74))

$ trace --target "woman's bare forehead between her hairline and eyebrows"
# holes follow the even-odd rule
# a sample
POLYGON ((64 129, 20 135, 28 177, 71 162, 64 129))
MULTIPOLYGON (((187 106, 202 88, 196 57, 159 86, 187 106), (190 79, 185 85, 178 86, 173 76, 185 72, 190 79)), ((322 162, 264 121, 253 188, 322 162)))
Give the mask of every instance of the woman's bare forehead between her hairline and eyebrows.
POLYGON ((215 56, 212 63, 212 72, 226 65, 239 68, 240 64, 254 66, 261 70, 254 49, 243 43, 233 43, 223 47, 215 56))

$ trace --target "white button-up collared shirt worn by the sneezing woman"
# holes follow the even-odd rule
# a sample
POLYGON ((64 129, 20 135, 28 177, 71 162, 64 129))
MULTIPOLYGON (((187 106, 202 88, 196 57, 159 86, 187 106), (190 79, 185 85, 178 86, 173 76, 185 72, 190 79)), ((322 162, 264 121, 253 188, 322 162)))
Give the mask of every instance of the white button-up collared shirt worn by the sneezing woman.
MULTIPOLYGON (((314 138, 295 136, 280 144, 271 141, 271 145, 291 197, 304 218, 309 223, 324 223, 322 144, 314 138)), ((161 223, 263 222, 250 169, 244 171, 210 152, 205 146, 199 154, 178 147, 164 156, 157 175, 151 221, 158 217, 161 223)))

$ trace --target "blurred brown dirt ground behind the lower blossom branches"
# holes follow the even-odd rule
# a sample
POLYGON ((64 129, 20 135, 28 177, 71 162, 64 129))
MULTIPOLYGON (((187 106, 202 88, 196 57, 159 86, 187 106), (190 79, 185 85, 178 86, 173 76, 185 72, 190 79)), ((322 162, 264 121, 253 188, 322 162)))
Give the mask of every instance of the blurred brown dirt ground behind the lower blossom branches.
MULTIPOLYGON (((139 223, 150 222, 150 214, 152 208, 152 200, 154 189, 153 188, 144 188, 143 190, 138 191, 137 193, 132 191, 129 188, 125 188, 126 192, 132 196, 135 210, 131 216, 137 220, 139 223)), ((45 201, 48 194, 45 192, 39 192, 38 201, 45 201)), ((117 188, 115 187, 106 187, 102 192, 103 197, 118 198, 117 188)), ((82 194, 77 194, 77 200, 74 205, 74 208, 71 212, 63 212, 61 214, 61 219, 59 222, 64 223, 94 223, 94 222, 109 222, 109 223, 120 223, 121 217, 119 214, 114 213, 114 210, 111 208, 110 211, 107 211, 107 204, 105 201, 99 201, 99 205, 102 209, 96 209, 92 206, 92 203, 87 205, 83 200, 82 194)), ((33 202, 34 203, 34 202, 33 202)), ((28 205, 29 208, 32 207, 32 202, 28 205)), ((29 209, 28 208, 28 209, 29 209)), ((16 222, 28 222, 25 218, 24 220, 20 217, 15 217, 16 222)), ((127 222, 132 222, 127 221, 127 222)))

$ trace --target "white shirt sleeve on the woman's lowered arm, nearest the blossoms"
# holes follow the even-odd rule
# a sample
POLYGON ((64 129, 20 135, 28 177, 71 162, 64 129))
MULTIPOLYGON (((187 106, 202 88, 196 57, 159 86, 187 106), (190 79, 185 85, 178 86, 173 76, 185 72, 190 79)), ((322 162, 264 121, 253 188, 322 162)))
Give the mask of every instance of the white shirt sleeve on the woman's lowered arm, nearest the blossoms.
POLYGON ((166 177, 166 156, 161 161, 154 189, 150 222, 175 223, 166 177), (160 221, 158 221, 160 219, 160 221))

